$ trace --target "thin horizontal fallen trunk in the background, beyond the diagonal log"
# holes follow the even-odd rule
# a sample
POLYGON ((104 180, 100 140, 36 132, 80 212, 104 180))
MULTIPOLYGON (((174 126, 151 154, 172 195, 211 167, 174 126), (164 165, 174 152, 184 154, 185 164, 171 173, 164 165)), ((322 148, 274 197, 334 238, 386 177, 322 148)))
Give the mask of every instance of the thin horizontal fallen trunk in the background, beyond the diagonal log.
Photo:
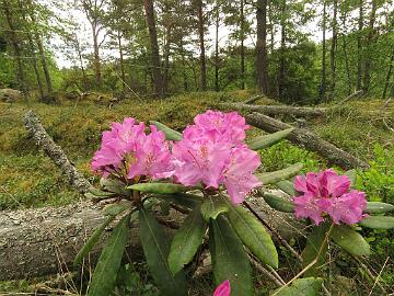
POLYGON ((325 107, 301 107, 288 105, 248 105, 244 103, 221 103, 221 107, 239 111, 256 111, 267 115, 293 115, 293 116, 322 116, 328 109, 325 107))

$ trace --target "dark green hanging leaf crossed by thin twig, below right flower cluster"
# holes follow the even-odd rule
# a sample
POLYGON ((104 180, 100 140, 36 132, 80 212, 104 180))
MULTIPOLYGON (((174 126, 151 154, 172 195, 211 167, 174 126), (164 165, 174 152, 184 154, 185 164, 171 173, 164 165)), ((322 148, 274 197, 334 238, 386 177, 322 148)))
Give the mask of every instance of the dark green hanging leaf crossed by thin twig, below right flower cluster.
POLYGON ((329 225, 324 223, 320 226, 314 226, 313 230, 306 238, 306 247, 302 251, 302 267, 306 267, 313 260, 317 258, 317 262, 313 264, 304 276, 317 276, 322 272, 322 266, 325 263, 325 255, 328 250, 328 238, 326 239, 329 225), (321 253, 318 251, 322 249, 321 253), (317 257, 318 254, 318 257, 317 257))

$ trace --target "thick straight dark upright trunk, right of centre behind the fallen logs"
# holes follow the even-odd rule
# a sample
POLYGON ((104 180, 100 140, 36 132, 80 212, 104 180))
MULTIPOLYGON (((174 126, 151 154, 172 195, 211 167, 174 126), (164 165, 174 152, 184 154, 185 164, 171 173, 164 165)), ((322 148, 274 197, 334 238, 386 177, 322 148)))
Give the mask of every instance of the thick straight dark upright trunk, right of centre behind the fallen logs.
MULTIPOLYGON (((286 1, 286 0, 283 0, 286 1)), ((259 93, 268 94, 267 0, 257 0, 257 84, 259 93)))

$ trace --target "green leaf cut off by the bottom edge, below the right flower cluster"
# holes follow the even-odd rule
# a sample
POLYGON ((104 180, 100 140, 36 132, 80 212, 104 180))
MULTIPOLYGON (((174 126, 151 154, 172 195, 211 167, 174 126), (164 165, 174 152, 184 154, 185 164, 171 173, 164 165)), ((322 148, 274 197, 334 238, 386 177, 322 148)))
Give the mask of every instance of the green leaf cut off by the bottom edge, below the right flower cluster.
POLYGON ((323 278, 305 277, 296 280, 290 286, 279 288, 275 296, 316 296, 323 287, 323 278))

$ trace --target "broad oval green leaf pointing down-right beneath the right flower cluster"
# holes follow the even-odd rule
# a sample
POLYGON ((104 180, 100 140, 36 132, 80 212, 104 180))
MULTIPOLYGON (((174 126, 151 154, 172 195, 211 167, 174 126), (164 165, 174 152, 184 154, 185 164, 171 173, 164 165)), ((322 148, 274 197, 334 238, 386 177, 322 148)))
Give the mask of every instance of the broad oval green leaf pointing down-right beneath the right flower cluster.
POLYGON ((347 225, 335 225, 332 239, 345 251, 354 255, 369 255, 371 248, 366 239, 347 225))

